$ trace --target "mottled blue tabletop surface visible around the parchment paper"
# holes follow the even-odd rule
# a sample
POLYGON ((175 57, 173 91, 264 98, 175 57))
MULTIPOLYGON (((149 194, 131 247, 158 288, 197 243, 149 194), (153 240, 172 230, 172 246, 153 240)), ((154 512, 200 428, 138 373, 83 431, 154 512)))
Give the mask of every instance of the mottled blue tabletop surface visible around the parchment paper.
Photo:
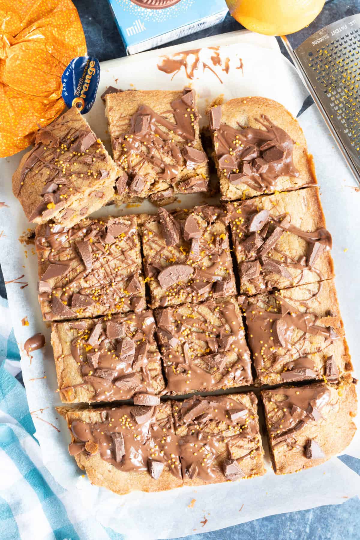
MULTIPOLYGON (((102 60, 125 56, 124 45, 121 42, 107 0, 96 0, 93 2, 73 0, 73 2, 79 11, 81 22, 84 26, 89 55, 96 56, 100 62, 102 60)), ((293 36, 291 43, 293 46, 296 46, 307 35, 311 35, 316 29, 322 28, 331 20, 335 21, 356 12, 360 12, 360 0, 349 2, 345 0, 330 0, 327 2, 322 14, 310 25, 310 28, 301 32, 301 35, 293 36), (307 35, 304 35, 305 32, 308 32, 307 35)), ((192 36, 181 38, 172 44, 185 43, 189 40, 218 35, 219 33, 230 32, 239 28, 239 24, 228 15, 220 25, 198 32, 192 36)), ((309 100, 308 104, 310 103, 309 100)), ((1 269, 0 294, 2 296, 6 294, 1 269)), ((349 456, 344 456, 341 459, 360 474, 359 460, 355 460, 349 456)), ((339 482, 341 482, 341 478, 339 478, 339 482)), ((250 485, 249 489, 251 489, 250 485)), ((301 494, 298 495, 301 497, 301 494)), ((223 504, 225 512, 230 511, 231 501, 219 501, 219 504, 223 504)), ((262 538, 267 538, 267 540, 301 540, 304 538, 314 538, 316 540, 355 540, 360 538, 359 531, 360 501, 358 498, 353 498, 342 505, 324 506, 313 510, 292 512, 291 514, 269 516, 219 531, 191 535, 187 538, 194 540, 225 540, 228 538, 232 540, 243 538, 247 540, 259 540, 262 538)))

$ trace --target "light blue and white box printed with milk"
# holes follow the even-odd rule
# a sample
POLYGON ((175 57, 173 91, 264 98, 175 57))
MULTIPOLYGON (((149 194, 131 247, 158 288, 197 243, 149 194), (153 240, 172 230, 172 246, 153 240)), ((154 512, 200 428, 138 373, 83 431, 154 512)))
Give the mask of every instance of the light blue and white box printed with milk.
POLYGON ((108 0, 126 52, 152 49, 221 23, 225 0, 108 0))

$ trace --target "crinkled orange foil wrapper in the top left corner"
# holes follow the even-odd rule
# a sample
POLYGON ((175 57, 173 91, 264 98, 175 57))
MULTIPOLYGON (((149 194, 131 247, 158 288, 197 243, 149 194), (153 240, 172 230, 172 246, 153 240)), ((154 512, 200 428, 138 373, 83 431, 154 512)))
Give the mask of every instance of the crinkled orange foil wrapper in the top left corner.
POLYGON ((0 157, 26 148, 64 110, 63 71, 84 55, 70 0, 0 0, 0 157))

